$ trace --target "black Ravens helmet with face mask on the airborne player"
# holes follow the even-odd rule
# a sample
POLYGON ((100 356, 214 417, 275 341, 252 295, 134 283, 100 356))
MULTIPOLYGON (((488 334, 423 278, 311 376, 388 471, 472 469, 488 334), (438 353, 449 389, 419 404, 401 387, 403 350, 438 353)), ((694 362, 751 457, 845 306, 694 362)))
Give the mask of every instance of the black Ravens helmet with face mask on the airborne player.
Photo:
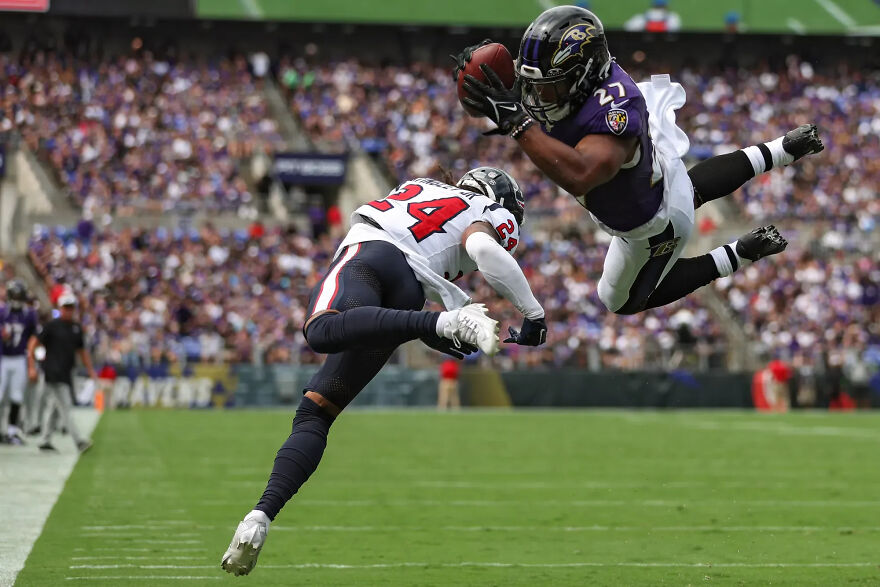
POLYGON ((601 21, 589 10, 544 11, 523 35, 516 61, 522 103, 545 126, 563 120, 608 77, 611 54, 601 21))

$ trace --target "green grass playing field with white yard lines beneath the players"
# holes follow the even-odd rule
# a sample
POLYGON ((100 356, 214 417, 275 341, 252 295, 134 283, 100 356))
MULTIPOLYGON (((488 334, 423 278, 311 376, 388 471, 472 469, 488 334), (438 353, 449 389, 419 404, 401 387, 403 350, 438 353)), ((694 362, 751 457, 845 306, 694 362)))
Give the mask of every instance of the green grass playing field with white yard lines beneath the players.
POLYGON ((877 585, 878 416, 355 411, 236 578, 290 414, 110 412, 17 585, 877 585))

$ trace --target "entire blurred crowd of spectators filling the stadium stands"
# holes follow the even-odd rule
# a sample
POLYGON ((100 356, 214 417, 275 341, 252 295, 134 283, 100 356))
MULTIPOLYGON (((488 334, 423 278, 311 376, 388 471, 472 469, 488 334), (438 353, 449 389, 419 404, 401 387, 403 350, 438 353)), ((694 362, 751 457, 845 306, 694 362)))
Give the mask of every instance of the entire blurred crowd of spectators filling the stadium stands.
MULTIPOLYGON (((238 159, 282 141, 244 59, 135 55, 103 61, 0 55, 0 130, 18 129, 87 217, 251 205, 238 159)), ((873 197, 880 185, 880 80, 833 60, 818 68, 792 57, 786 68, 785 75, 764 65, 684 68, 676 77, 690 99, 679 121, 693 159, 778 136, 808 118, 823 129, 821 158, 762 176, 734 196, 750 221, 821 220, 814 222, 824 227, 819 250, 780 255, 716 286, 768 357, 810 363, 847 337, 863 341, 866 352, 880 341, 869 326, 877 322, 876 300, 854 293, 880 282, 876 254, 858 256, 870 250, 866 243, 880 216, 873 197), (803 275, 815 281, 801 282, 803 275), (813 304, 823 310, 803 311, 813 304)), ((631 70, 637 79, 647 75, 631 70)), ((545 230, 557 232, 530 239, 520 256, 547 304, 550 344, 511 348, 502 361, 669 364, 683 341, 699 349, 703 363, 719 356, 721 329, 693 298, 635 317, 602 309, 595 280, 605 245, 591 230, 573 230, 592 229, 583 210, 560 197, 510 141, 481 135, 484 123, 463 113, 447 67, 283 58, 276 71, 319 147, 356 144, 386 161, 395 179, 436 175, 439 165, 454 174, 498 165, 522 184, 530 222, 553 219, 554 228, 545 230)), ((255 236, 210 227, 113 232, 92 226, 89 234, 42 229, 31 253, 50 285, 82 285, 96 310, 88 327, 99 352, 113 360, 173 355, 312 362, 316 357, 303 348, 295 325, 333 245, 328 237, 280 230, 255 236), (137 278, 126 277, 133 269, 137 278), (124 301, 111 305, 111 299, 124 301)), ((466 287, 477 299, 491 297, 480 280, 466 287)), ((496 310, 515 323, 509 306, 496 310)))

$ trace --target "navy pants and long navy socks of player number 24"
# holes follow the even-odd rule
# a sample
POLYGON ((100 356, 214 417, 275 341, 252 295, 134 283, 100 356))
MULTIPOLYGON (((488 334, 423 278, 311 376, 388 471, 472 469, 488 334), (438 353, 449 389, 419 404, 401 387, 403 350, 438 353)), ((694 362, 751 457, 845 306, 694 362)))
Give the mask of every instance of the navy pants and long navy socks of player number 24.
MULTIPOLYGON (((331 354, 304 391, 345 408, 398 345, 435 334, 439 313, 418 311, 424 305, 422 286, 397 247, 382 241, 348 247, 312 292, 306 339, 331 354)), ((303 397, 255 509, 275 519, 317 469, 334 419, 303 397)))

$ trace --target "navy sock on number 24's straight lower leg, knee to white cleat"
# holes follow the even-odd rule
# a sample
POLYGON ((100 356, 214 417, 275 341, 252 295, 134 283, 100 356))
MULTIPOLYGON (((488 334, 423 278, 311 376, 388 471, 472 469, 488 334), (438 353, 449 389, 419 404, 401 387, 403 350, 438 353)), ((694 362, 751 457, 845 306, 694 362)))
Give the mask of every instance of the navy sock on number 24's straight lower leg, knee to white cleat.
POLYGON ((299 491, 321 462, 327 433, 335 418, 304 397, 296 409, 290 436, 278 449, 266 490, 255 510, 274 520, 284 504, 299 491))

